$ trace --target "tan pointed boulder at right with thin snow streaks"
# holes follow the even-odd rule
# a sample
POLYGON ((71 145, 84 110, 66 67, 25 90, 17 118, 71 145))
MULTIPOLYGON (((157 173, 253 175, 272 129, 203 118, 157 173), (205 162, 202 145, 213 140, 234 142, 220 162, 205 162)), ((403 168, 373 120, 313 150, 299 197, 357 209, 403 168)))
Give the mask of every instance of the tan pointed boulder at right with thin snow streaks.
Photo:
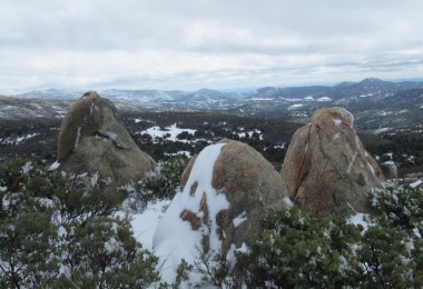
POLYGON ((353 126, 347 110, 326 108, 292 138, 282 178, 289 196, 315 216, 368 211, 367 192, 384 180, 353 126))

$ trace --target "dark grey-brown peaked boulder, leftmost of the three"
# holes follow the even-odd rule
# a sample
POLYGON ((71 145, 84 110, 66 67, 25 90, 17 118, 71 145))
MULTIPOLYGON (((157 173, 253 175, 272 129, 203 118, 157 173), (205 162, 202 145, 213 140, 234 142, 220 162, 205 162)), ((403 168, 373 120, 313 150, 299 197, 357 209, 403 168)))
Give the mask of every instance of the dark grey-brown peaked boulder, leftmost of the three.
POLYGON ((134 142, 112 102, 94 91, 85 93, 65 117, 58 162, 66 171, 98 171, 118 183, 140 179, 155 165, 134 142))

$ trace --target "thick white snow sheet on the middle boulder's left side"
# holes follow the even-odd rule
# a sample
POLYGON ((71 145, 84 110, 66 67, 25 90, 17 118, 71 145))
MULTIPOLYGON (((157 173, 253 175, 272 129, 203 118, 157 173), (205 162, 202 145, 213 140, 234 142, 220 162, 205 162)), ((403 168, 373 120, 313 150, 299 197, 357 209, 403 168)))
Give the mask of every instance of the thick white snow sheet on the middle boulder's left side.
POLYGON ((184 191, 173 199, 165 216, 159 220, 153 243, 155 252, 164 261, 163 277, 171 282, 181 259, 194 263, 200 253, 203 236, 209 236, 210 249, 219 250, 217 213, 229 207, 223 192, 212 186, 215 162, 225 143, 206 147, 197 157, 184 191), (191 191, 195 188, 195 191, 191 191), (201 203, 207 200, 208 211, 201 203), (208 216, 207 216, 208 215, 208 216), (196 218, 208 219, 210 227, 200 225, 196 218), (198 226, 198 228, 197 228, 198 226))

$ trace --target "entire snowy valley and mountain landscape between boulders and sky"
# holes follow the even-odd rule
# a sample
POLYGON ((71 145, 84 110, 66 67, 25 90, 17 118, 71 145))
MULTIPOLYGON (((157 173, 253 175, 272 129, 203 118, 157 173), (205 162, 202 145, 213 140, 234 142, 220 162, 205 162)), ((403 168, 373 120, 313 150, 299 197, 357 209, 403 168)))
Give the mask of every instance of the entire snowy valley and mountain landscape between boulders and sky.
MULTIPOLYGON (((61 120, 83 90, 0 96, 0 160, 56 160, 61 120)), ((423 82, 375 78, 334 87, 260 88, 249 92, 105 90, 137 144, 156 160, 194 156, 222 138, 245 142, 276 168, 291 137, 323 107, 354 114, 365 148, 401 173, 423 168, 423 82)))

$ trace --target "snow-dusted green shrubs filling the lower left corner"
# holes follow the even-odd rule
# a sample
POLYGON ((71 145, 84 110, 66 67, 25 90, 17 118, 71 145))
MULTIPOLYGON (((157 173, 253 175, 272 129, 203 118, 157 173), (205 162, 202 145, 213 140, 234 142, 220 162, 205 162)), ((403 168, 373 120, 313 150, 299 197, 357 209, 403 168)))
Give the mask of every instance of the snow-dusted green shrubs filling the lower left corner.
POLYGON ((0 167, 0 287, 145 288, 159 281, 121 196, 97 175, 46 173, 28 161, 0 167))

